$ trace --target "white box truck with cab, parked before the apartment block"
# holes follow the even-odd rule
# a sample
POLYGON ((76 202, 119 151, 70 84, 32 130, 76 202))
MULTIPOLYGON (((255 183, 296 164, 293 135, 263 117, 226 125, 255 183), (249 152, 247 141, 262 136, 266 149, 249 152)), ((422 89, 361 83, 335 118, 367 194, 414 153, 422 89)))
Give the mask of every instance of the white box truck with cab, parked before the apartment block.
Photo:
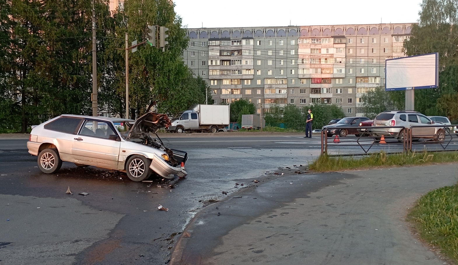
POLYGON ((171 121, 170 132, 218 132, 229 126, 229 105, 192 105, 171 121))

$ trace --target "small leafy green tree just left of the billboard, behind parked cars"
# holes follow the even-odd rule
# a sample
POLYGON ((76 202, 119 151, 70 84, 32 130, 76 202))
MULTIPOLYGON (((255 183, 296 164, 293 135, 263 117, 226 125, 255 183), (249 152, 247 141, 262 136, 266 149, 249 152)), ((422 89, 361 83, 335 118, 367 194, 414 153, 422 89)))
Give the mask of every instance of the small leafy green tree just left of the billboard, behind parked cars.
POLYGON ((394 110, 395 106, 390 97, 392 92, 385 91, 383 87, 376 87, 361 96, 361 108, 366 117, 375 118, 380 112, 385 110, 394 110))

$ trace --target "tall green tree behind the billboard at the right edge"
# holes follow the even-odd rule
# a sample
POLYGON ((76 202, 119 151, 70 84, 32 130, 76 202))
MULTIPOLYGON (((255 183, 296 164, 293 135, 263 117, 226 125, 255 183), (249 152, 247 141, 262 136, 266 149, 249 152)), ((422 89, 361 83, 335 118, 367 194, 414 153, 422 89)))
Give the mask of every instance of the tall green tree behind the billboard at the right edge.
MULTIPOLYGON (((418 24, 404 41, 407 55, 439 53, 439 87, 415 90, 415 110, 426 115, 446 115, 437 101, 444 94, 456 94, 458 87, 458 2, 423 0, 418 24)), ((458 110, 454 110, 456 112, 458 110)))

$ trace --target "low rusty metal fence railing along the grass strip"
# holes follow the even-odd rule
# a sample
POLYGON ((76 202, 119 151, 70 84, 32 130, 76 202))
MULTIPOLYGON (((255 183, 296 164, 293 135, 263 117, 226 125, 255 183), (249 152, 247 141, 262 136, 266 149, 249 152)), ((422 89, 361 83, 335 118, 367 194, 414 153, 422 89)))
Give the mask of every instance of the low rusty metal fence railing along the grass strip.
POLYGON ((327 127, 321 133, 321 153, 348 156, 382 150, 387 154, 412 150, 458 151, 458 136, 453 132, 455 126, 458 125, 327 127), (339 133, 341 130, 346 131, 339 133), (355 136, 349 137, 350 134, 355 136))

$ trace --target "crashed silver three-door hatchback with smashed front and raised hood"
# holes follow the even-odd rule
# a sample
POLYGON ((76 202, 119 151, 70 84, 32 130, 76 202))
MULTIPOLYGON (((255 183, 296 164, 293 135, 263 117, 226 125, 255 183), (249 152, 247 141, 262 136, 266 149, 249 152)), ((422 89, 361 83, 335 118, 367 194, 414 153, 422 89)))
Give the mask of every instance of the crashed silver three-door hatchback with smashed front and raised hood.
POLYGON ((133 181, 145 180, 153 172, 165 178, 185 177, 187 153, 166 148, 156 134, 169 125, 166 115, 155 112, 136 121, 60 115, 33 127, 27 148, 38 156, 38 168, 44 173, 54 173, 68 161, 123 171, 133 181))

